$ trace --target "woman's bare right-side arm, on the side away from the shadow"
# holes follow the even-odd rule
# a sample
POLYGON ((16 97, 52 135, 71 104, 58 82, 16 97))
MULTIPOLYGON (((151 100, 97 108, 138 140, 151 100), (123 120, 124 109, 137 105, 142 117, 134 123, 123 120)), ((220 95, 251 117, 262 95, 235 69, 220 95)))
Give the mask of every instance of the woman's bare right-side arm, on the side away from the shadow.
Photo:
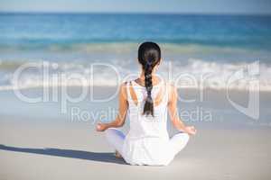
POLYGON ((193 126, 185 126, 181 121, 178 109, 177 109, 177 101, 178 101, 178 93, 177 88, 174 85, 169 85, 169 103, 168 103, 168 111, 170 114, 171 121, 173 122, 173 126, 177 130, 181 130, 188 134, 196 134, 196 130, 193 126))

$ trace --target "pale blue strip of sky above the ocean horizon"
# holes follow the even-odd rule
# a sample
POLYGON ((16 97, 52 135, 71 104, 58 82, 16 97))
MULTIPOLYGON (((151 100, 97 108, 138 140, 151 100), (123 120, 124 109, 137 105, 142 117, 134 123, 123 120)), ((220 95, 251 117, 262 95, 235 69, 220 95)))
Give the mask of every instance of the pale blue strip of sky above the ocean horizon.
POLYGON ((271 0, 0 0, 0 12, 271 14, 271 0))

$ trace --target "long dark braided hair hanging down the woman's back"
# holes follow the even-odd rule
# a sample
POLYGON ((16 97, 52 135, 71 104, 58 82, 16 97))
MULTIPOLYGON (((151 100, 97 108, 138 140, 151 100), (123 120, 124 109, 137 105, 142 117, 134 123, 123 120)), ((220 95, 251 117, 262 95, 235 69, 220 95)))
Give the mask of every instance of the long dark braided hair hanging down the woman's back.
POLYGON ((138 48, 138 61, 145 73, 145 88, 147 92, 143 114, 154 116, 154 101, 152 98, 152 73, 161 60, 161 49, 154 42, 144 42, 138 48))

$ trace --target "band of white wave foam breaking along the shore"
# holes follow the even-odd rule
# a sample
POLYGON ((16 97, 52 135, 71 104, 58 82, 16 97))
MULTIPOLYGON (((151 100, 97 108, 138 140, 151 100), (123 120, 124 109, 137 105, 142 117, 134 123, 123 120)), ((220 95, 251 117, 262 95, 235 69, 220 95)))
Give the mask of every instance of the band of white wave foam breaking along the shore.
MULTIPOLYGON (((36 69, 23 72, 18 81, 14 81, 14 71, 5 72, 5 76, 0 77, 0 90, 43 86, 119 85, 122 79, 126 79, 130 74, 138 75, 138 68, 135 66, 123 67, 121 66, 123 62, 109 63, 117 73, 112 69, 100 68, 94 70, 94 76, 91 74, 91 64, 46 61, 35 64, 36 69), (42 74, 44 67, 49 72, 46 78, 42 74)), ((201 59, 189 59, 188 63, 167 61, 159 67, 158 72, 166 80, 173 81, 175 85, 182 88, 248 90, 251 82, 256 82, 260 91, 271 91, 271 67, 266 64, 258 64, 258 62, 233 64, 201 59), (229 83, 232 78, 237 80, 229 83)), ((253 89, 255 90, 255 88, 253 89)))

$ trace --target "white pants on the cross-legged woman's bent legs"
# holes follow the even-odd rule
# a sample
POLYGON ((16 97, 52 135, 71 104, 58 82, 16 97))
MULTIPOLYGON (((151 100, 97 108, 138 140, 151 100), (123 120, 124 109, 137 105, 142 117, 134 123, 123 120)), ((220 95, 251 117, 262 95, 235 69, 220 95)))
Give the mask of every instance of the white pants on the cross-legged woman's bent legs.
MULTIPOLYGON (((109 128, 106 130, 107 141, 113 148, 117 150, 122 156, 122 147, 126 136, 121 130, 115 128, 109 128)), ((182 148, 184 148, 189 140, 189 135, 187 133, 177 133, 170 139, 170 148, 173 149, 173 156, 178 154, 182 148)))

